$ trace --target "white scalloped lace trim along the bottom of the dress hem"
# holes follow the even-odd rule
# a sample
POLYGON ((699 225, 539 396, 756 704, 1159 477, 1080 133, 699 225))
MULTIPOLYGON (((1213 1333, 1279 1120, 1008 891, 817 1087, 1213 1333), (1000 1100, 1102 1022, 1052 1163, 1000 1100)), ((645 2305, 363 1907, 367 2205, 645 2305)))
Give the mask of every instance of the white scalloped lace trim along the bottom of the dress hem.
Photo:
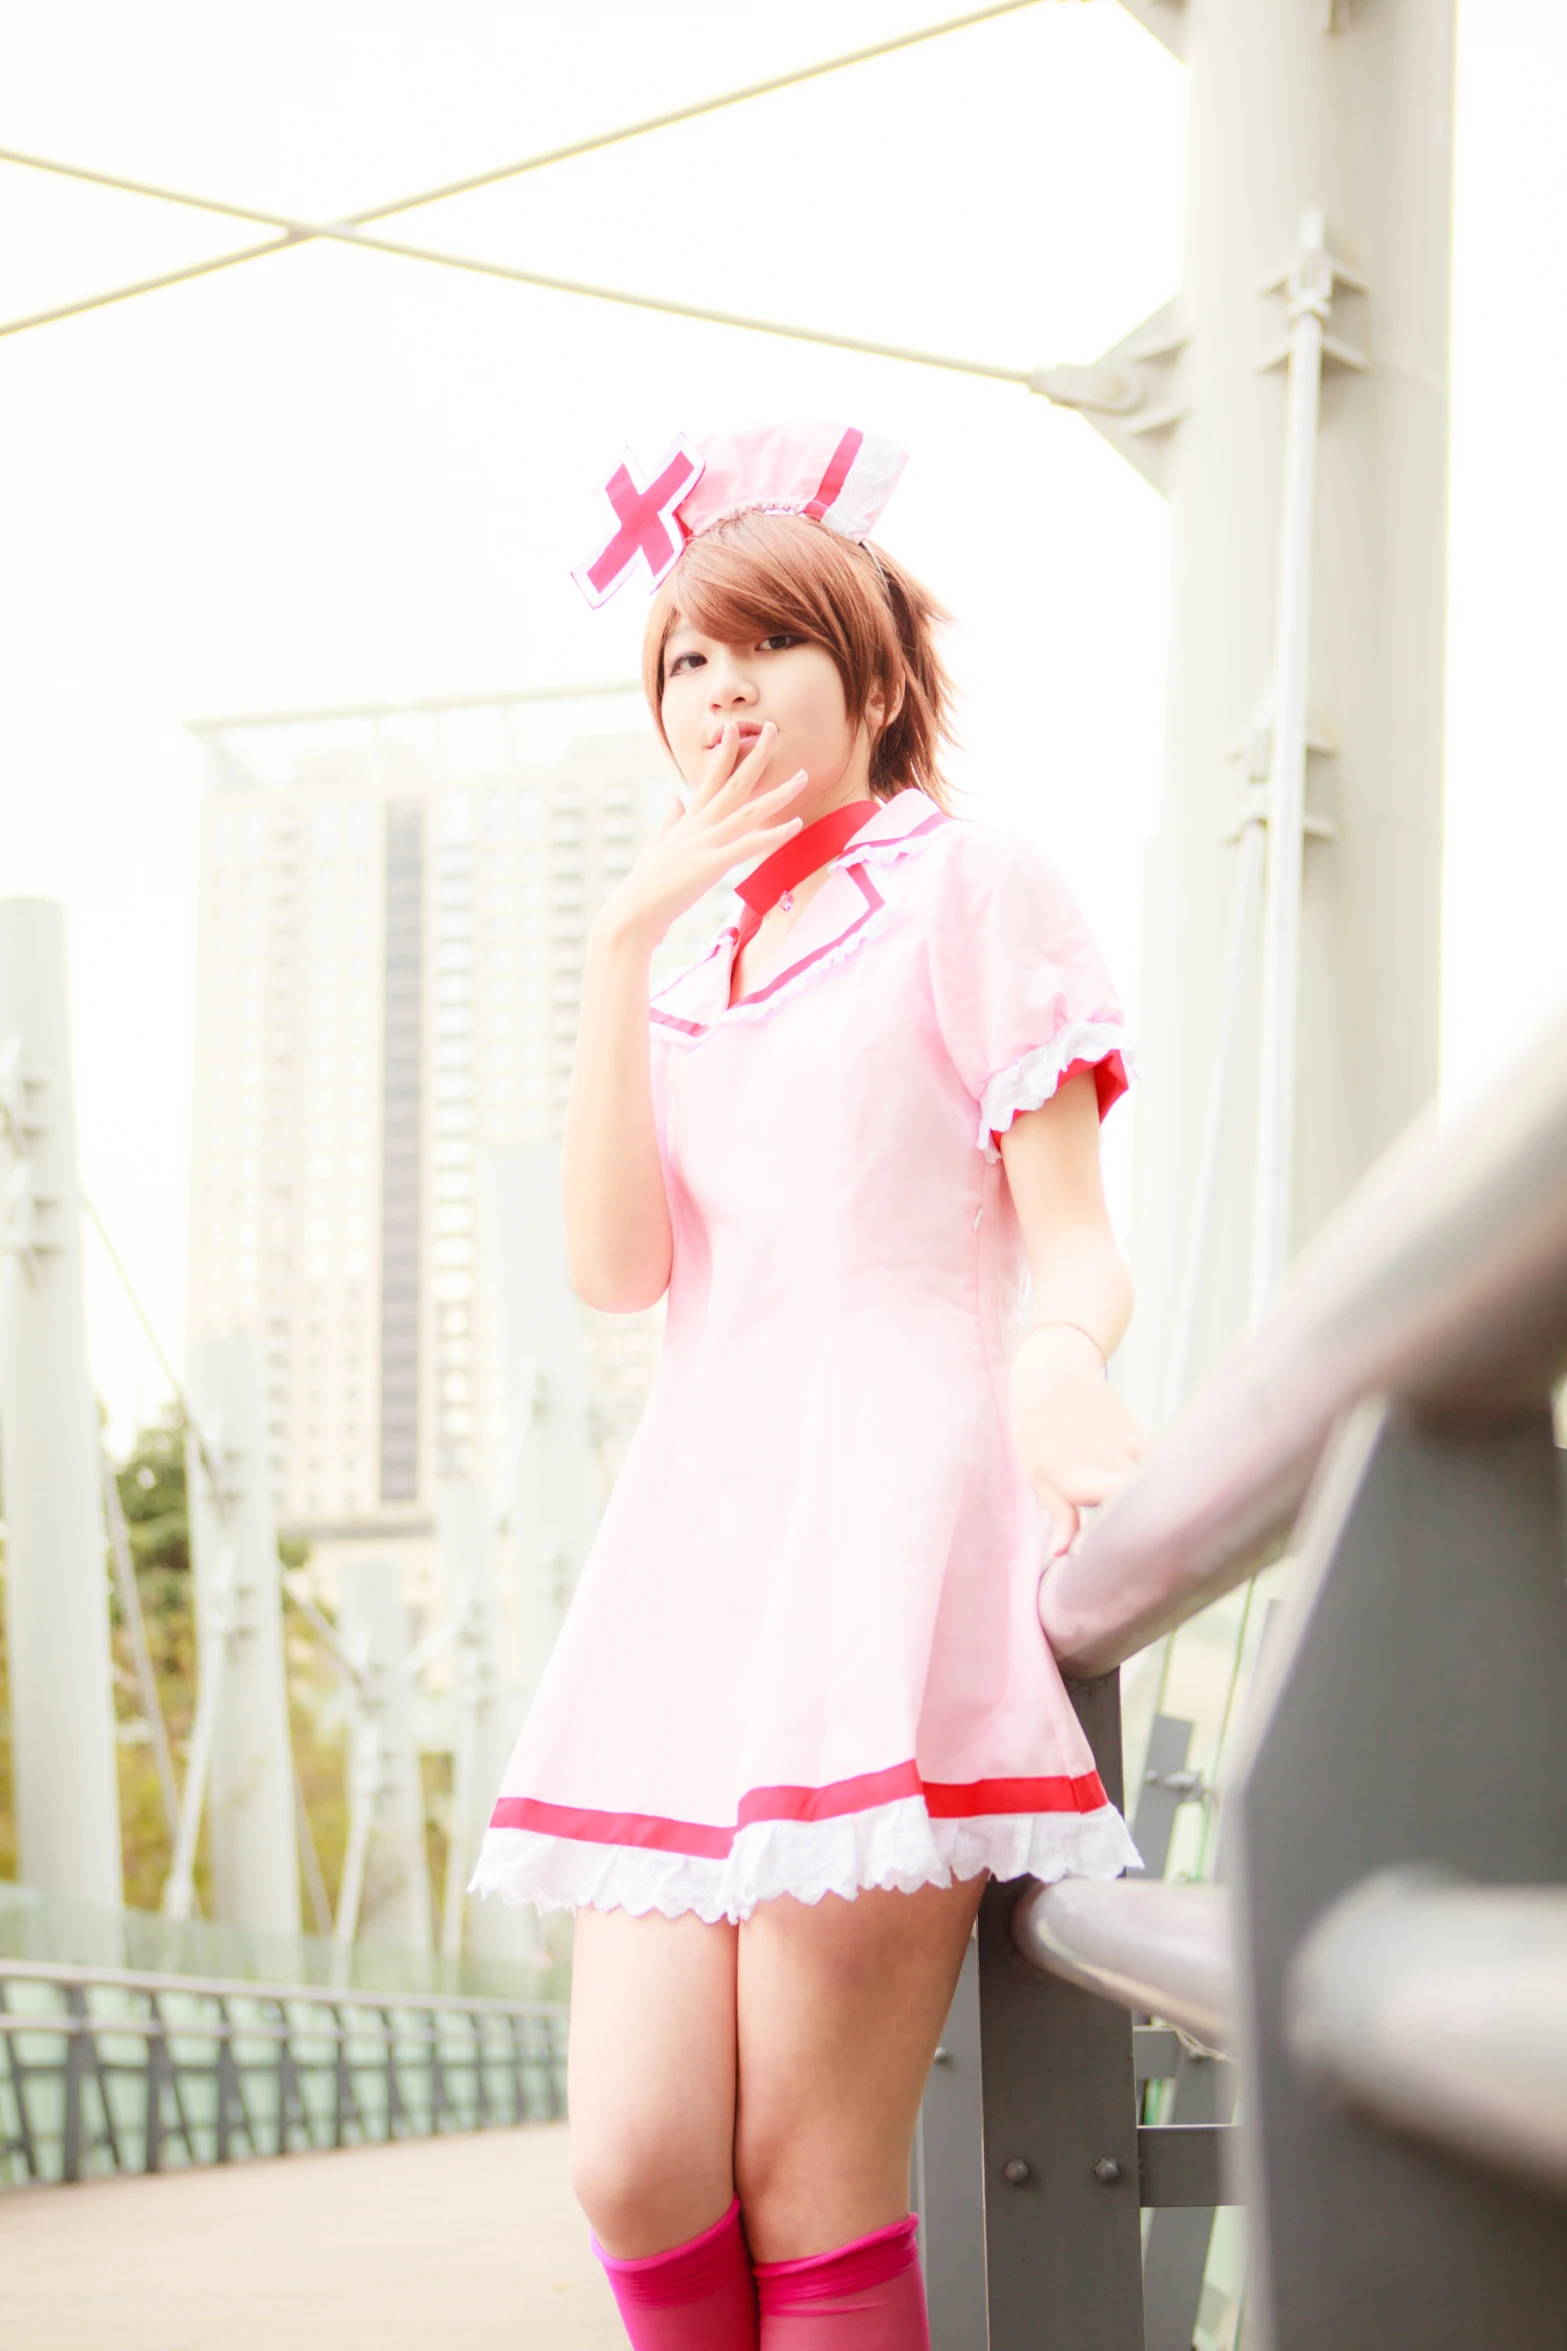
POLYGON ((749 1918, 759 1902, 794 1895, 846 1902, 862 1886, 914 1893, 954 1878, 1118 1878, 1142 1869, 1121 1813, 987 1813, 930 1820, 921 1796, 900 1796, 839 1820, 759 1820, 740 1829, 726 1860, 594 1846, 536 1829, 489 1829, 470 1893, 500 1895, 515 1909, 695 1911, 709 1925, 749 1918))

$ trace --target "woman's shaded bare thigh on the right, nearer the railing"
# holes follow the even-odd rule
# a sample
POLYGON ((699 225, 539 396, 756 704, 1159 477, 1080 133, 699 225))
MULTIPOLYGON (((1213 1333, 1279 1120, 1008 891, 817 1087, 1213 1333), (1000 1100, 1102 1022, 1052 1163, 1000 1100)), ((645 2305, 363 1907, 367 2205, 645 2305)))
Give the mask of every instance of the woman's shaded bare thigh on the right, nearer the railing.
POLYGON ((740 1928, 735 2179, 759 2262, 909 2210, 909 2149, 984 1878, 761 1902, 740 1928))

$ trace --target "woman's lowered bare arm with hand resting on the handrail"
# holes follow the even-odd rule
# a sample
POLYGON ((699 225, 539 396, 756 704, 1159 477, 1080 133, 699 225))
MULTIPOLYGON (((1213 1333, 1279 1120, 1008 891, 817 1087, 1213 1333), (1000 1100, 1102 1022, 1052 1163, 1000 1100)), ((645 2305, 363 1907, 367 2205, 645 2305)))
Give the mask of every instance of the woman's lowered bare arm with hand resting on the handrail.
POLYGON ((1081 1072, 1001 1138, 1034 1277, 1031 1328, 1013 1359, 1013 1441, 1050 1512, 1055 1547, 1107 1502, 1142 1453, 1137 1422, 1104 1380, 1132 1314, 1099 1178, 1099 1105, 1081 1072))

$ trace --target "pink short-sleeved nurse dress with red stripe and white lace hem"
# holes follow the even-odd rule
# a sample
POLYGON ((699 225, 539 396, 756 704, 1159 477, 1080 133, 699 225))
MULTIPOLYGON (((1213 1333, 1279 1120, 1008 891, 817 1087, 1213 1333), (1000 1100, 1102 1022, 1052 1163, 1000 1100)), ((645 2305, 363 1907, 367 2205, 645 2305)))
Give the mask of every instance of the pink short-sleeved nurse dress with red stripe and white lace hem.
POLYGON ((1038 1627, 1008 1436, 1027 1258, 996 1138, 1121 1009, 1022 839, 886 802, 731 1006, 655 994, 658 1375, 475 1890, 695 1911, 1116 1876, 1137 1855, 1038 1627))

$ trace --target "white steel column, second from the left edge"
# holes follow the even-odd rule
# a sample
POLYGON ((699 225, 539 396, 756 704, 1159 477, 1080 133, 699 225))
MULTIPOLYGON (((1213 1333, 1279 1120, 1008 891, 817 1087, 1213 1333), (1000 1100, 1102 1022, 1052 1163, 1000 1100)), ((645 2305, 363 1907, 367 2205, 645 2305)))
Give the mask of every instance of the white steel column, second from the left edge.
POLYGON ((200 1766, 209 1740, 211 1914, 221 1925, 298 1935, 294 1749, 261 1349, 247 1338, 195 1345, 188 1392, 218 1488, 204 1467, 202 1444, 188 1434, 200 1683, 181 1808, 183 1848, 176 1850, 164 1909, 188 1916, 181 1862, 193 1857, 190 1822, 200 1815, 200 1766))

